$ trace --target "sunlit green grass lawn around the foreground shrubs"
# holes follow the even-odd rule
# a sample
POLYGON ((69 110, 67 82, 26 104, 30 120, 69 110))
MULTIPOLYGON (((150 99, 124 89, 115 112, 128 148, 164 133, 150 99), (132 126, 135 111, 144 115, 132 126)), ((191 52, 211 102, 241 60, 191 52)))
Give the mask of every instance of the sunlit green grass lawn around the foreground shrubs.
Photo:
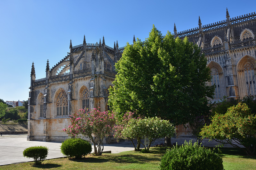
MULTIPOLYGON (((161 156, 166 147, 152 147, 150 153, 134 151, 114 153, 103 153, 102 156, 87 155, 84 159, 75 160, 68 158, 44 160, 42 165, 33 166, 33 162, 0 166, 0 170, 114 170, 114 169, 159 169, 161 156)), ((223 158, 225 170, 256 170, 256 156, 245 156, 236 148, 221 148, 220 156, 223 158)))

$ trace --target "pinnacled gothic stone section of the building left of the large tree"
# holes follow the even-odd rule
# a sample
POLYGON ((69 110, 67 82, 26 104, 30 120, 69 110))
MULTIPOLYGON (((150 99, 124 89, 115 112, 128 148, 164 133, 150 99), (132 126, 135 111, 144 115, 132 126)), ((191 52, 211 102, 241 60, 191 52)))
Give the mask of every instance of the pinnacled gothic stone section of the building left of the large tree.
POLYGON ((105 45, 104 37, 96 44, 84 42, 72 46, 66 57, 49 68, 46 78, 36 80, 34 63, 28 98, 27 140, 63 141, 68 135, 62 131, 71 123, 68 118, 80 108, 108 110, 108 88, 113 86, 115 63, 124 48, 114 43, 105 45))

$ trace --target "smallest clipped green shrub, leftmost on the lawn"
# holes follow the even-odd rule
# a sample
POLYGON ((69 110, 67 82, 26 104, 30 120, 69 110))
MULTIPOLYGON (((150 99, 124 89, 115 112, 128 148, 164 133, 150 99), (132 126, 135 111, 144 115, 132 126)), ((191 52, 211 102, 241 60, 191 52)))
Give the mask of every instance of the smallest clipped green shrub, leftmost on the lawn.
POLYGON ((46 146, 31 146, 23 151, 23 156, 33 158, 35 164, 41 164, 48 155, 48 148, 46 146))

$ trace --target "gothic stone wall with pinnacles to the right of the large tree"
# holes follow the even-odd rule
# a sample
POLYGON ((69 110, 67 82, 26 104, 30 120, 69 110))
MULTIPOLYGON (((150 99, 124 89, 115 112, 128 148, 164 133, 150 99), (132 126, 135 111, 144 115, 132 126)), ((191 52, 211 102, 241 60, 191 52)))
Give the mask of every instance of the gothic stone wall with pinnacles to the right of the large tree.
MULTIPOLYGON (((256 13, 230 18, 203 25, 198 19, 198 27, 177 32, 174 36, 187 37, 202 49, 211 69, 212 80, 208 85, 215 86, 212 102, 228 99, 256 97, 256 13)), ((186 129, 178 128, 180 136, 186 129)))

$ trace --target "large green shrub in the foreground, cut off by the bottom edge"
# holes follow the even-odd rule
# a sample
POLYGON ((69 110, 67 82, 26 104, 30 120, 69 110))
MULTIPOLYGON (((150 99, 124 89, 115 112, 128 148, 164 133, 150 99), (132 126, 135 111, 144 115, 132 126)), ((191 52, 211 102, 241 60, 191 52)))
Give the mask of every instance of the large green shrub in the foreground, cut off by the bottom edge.
POLYGON ((184 142, 167 150, 161 159, 161 170, 223 170, 223 160, 210 149, 198 146, 195 142, 184 142))

